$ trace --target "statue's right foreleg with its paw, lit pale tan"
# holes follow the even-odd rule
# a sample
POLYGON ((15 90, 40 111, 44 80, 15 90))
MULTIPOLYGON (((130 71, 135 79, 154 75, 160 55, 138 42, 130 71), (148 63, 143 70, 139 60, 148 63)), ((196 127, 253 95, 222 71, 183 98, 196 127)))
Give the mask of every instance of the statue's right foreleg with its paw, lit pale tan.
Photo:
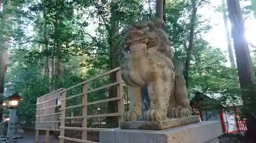
POLYGON ((170 82, 158 79, 156 82, 148 84, 148 94, 151 98, 151 109, 146 112, 146 120, 160 121, 165 120, 167 107, 169 105, 170 82))

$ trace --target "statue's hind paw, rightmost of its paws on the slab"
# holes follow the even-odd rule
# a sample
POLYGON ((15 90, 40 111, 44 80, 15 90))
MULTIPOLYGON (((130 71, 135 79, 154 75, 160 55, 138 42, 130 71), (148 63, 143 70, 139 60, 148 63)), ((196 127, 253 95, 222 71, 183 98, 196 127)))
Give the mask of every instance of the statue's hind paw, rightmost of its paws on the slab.
POLYGON ((190 109, 177 106, 168 111, 168 118, 184 118, 191 116, 190 109))

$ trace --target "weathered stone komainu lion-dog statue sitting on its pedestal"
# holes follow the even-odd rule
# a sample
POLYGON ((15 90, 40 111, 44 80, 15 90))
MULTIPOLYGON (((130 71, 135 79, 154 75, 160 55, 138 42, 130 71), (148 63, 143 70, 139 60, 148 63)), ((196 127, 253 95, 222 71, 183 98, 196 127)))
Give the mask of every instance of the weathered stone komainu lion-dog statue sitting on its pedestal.
POLYGON ((151 108, 148 121, 191 116, 182 64, 174 62, 162 19, 138 21, 125 28, 120 48, 122 79, 129 85, 130 110, 124 121, 141 118, 141 87, 147 85, 151 108), (175 66, 174 66, 175 64, 175 66))

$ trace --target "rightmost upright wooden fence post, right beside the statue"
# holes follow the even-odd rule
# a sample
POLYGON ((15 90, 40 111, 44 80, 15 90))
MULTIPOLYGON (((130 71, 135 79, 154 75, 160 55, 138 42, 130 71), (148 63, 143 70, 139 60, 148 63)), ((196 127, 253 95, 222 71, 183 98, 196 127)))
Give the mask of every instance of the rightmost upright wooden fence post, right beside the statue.
POLYGON ((116 73, 116 79, 117 82, 120 84, 117 86, 117 97, 120 98, 120 100, 117 101, 117 106, 118 106, 118 112, 120 113, 120 117, 118 118, 119 122, 119 127, 120 127, 120 122, 123 121, 123 113, 124 113, 124 101, 123 101, 123 80, 121 77, 121 71, 117 71, 116 73))

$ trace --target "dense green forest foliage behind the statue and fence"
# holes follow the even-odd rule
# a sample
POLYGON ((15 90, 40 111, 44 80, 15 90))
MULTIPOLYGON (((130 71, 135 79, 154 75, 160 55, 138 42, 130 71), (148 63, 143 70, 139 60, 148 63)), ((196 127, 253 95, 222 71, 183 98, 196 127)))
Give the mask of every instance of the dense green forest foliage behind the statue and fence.
MULTIPOLYGON (((199 1, 197 1, 199 2, 199 1)), ((9 47, 10 58, 6 75, 6 93, 19 92, 26 98, 19 108, 21 120, 35 120, 36 98, 57 89, 56 59, 61 62, 60 87, 68 88, 98 73, 119 66, 117 51, 121 42, 119 32, 134 21, 154 17, 154 5, 149 9, 145 1, 12 1, 15 11, 11 13, 13 45, 9 47), (27 32, 27 29, 30 32, 27 32), (49 71, 47 71, 49 67, 49 71), (53 69, 53 70, 52 70, 53 69)), ((173 44, 174 58, 184 62, 188 45, 190 5, 175 0, 167 3, 166 33, 173 44)), ((194 50, 189 73, 190 88, 205 93, 222 93, 234 97, 237 89, 234 81, 236 69, 225 66, 226 58, 218 48, 211 47, 203 39, 211 25, 199 21, 197 15, 194 50)), ((109 82, 109 77, 96 80, 89 88, 97 88, 109 82)), ((78 87, 69 96, 80 93, 78 87)), ((107 98, 108 90, 89 95, 89 101, 107 98)), ((126 93, 124 93, 126 95, 126 93)), ((227 98, 219 98, 225 102, 227 98)), ((79 99, 69 101, 78 104, 79 99)), ((93 112, 106 104, 88 109, 93 112)), ((127 107, 125 105, 125 107, 127 107)), ((70 110, 76 115, 80 110, 70 110)))

